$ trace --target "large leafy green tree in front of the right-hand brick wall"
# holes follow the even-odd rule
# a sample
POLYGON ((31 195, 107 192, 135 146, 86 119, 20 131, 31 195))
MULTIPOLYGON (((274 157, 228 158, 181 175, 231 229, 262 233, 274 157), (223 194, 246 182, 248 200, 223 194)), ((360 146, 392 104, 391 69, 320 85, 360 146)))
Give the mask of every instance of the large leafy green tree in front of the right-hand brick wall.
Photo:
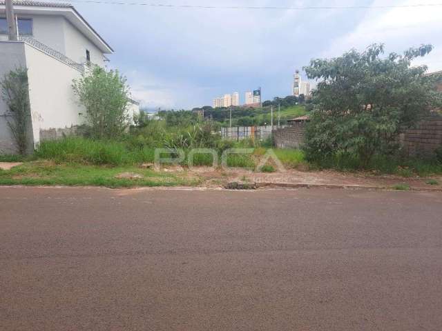
POLYGON ((306 132, 307 158, 351 157, 364 168, 374 154, 394 152, 400 130, 441 103, 436 75, 426 75, 426 66, 411 66, 431 50, 423 45, 384 57, 383 45, 374 44, 365 52, 312 60, 304 69, 319 82, 306 132))

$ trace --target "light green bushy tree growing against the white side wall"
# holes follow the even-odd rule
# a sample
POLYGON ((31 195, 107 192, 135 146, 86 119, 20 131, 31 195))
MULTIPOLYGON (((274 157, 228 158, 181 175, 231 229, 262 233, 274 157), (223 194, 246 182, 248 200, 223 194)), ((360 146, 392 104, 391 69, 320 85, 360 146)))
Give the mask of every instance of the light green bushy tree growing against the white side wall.
POLYGON ((86 108, 86 121, 95 137, 111 138, 122 134, 128 125, 130 98, 126 78, 117 70, 95 66, 88 74, 73 80, 73 90, 86 108))

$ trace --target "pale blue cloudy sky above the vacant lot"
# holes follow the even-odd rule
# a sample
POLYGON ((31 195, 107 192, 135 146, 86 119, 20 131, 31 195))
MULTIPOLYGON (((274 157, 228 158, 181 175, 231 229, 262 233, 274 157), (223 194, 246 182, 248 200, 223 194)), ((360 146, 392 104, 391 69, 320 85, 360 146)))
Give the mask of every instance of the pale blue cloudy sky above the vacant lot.
MULTIPOLYGON (((103 0, 106 1, 106 0, 103 0)), ((136 2, 142 0, 122 0, 136 2)), ((204 6, 404 6, 442 0, 143 0, 204 6)), ((262 88, 263 100, 291 93, 310 59, 385 43, 387 52, 432 43, 423 58, 442 70, 442 6, 323 10, 158 8, 73 2, 111 44, 111 66, 148 108, 211 105, 225 93, 262 88)))

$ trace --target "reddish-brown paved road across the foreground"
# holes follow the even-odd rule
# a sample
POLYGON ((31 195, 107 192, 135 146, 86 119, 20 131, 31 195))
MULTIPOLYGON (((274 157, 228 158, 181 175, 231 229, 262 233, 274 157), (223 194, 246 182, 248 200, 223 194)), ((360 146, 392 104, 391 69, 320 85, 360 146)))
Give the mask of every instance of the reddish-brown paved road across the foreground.
POLYGON ((0 330, 442 330, 442 194, 0 188, 0 330))

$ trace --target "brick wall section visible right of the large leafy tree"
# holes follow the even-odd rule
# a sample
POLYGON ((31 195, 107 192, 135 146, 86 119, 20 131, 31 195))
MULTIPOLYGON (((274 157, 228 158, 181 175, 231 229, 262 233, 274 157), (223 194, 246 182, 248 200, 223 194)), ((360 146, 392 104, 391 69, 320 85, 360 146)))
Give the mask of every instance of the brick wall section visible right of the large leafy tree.
POLYGON ((399 141, 410 156, 434 156, 434 150, 442 146, 442 116, 434 114, 426 117, 415 128, 400 134, 399 141))

